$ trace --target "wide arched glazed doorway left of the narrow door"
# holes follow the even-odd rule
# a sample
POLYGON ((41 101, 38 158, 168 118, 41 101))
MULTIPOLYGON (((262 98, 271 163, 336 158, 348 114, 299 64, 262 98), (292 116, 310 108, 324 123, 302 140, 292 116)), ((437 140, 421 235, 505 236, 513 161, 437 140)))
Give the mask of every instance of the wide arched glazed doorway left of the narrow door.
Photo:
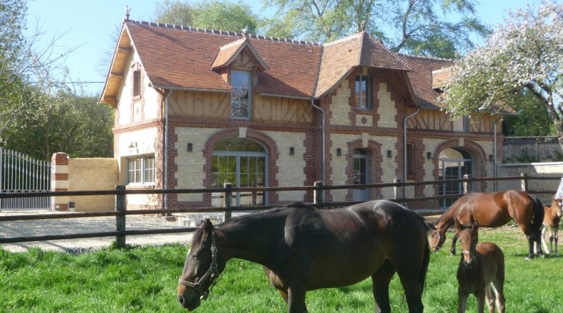
MULTIPOLYGON (((228 138, 217 142, 213 149, 211 165, 212 188, 222 188, 225 183, 233 187, 268 186, 268 153, 262 144, 251 139, 228 138)), ((233 193, 231 206, 266 204, 266 194, 251 192, 233 193), (256 202, 256 203, 255 203, 256 202)), ((223 193, 211 195, 212 206, 223 206, 223 193)))

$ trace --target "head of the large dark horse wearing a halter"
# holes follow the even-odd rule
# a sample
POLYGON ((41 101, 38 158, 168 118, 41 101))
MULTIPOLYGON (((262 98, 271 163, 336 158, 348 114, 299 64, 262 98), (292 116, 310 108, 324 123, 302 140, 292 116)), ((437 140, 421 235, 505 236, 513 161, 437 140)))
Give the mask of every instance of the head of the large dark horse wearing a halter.
POLYGON ((214 226, 206 218, 191 238, 184 270, 178 280, 178 301, 184 309, 196 309, 201 299, 209 296, 214 280, 225 268, 225 262, 219 261, 217 255, 214 226))

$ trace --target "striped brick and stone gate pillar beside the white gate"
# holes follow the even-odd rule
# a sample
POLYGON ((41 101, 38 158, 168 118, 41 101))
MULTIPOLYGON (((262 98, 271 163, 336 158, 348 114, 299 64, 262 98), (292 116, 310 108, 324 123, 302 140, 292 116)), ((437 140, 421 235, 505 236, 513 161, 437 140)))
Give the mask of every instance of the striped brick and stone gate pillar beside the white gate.
MULTIPOLYGON (((51 191, 68 191, 68 154, 57 152, 51 157, 51 191)), ((68 211, 68 196, 54 196, 51 201, 53 211, 68 211)))

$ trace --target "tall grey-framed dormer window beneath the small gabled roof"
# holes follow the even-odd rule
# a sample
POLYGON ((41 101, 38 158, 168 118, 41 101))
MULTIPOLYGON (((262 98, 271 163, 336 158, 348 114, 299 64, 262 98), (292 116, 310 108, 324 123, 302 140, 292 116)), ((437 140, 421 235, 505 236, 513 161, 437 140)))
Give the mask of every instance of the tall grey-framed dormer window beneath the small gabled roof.
POLYGON ((251 118, 251 72, 246 70, 231 71, 231 117, 236 119, 251 118))

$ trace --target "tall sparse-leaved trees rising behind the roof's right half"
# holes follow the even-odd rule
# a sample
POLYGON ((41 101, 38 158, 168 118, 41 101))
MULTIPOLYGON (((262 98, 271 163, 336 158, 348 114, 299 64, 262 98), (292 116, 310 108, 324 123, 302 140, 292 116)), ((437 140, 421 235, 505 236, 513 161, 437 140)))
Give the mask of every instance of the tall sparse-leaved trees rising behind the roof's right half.
POLYGON ((488 35, 475 0, 263 0, 278 9, 268 36, 334 41, 363 28, 392 51, 455 58, 488 35), (456 16, 459 16, 456 18, 456 16))

